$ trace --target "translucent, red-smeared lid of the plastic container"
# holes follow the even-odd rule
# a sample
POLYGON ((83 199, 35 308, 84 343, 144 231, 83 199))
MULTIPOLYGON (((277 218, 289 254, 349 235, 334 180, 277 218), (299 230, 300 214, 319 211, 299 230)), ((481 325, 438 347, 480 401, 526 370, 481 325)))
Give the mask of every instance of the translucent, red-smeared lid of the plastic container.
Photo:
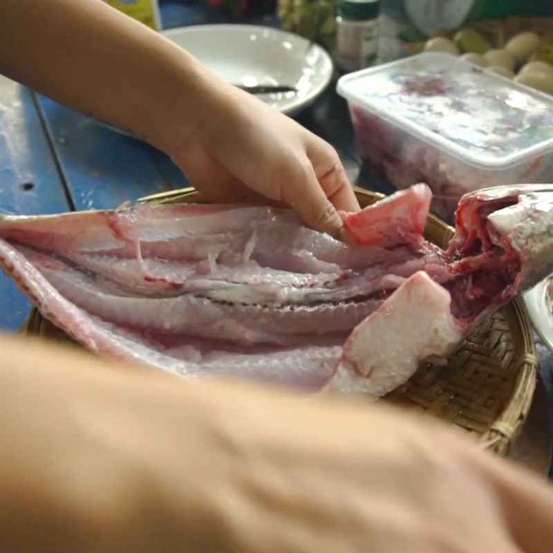
POLYGON ((502 169, 553 151, 553 97, 449 54, 350 73, 337 91, 474 167, 502 169))

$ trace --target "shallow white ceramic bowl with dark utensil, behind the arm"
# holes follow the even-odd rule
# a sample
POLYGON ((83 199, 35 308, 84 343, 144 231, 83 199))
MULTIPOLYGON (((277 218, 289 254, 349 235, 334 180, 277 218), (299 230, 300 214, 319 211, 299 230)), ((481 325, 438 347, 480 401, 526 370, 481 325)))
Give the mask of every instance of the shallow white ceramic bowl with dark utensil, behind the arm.
POLYGON ((198 25, 161 34, 232 84, 297 88, 297 92, 259 95, 288 115, 312 104, 332 78, 332 59, 324 48, 279 29, 198 25))

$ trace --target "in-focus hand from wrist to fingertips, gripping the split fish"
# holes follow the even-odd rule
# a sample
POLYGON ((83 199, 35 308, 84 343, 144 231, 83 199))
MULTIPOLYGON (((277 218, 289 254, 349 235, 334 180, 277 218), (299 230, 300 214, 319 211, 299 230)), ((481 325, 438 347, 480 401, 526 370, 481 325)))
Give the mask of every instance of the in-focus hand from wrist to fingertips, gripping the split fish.
POLYGON ((334 148, 256 97, 206 75, 198 124, 171 151, 211 201, 284 203, 317 230, 340 237, 337 209, 359 203, 334 148))

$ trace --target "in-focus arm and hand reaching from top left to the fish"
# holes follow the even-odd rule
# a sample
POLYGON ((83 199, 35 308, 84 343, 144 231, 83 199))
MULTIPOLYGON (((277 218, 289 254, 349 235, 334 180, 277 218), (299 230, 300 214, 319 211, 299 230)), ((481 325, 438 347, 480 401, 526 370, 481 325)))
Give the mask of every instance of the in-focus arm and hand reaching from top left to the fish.
POLYGON ((359 209, 329 144, 100 0, 0 0, 0 72, 169 153, 211 200, 283 202, 334 236, 359 209))

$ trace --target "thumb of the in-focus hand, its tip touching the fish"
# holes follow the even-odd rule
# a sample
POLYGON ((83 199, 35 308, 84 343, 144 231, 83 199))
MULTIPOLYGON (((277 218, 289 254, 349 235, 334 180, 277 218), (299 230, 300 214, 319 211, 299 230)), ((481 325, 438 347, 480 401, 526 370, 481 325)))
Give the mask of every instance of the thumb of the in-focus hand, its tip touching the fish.
POLYGON ((278 179, 273 185, 280 188, 280 197, 299 213, 307 225, 339 238, 344 223, 321 188, 310 160, 292 158, 274 178, 278 179))

